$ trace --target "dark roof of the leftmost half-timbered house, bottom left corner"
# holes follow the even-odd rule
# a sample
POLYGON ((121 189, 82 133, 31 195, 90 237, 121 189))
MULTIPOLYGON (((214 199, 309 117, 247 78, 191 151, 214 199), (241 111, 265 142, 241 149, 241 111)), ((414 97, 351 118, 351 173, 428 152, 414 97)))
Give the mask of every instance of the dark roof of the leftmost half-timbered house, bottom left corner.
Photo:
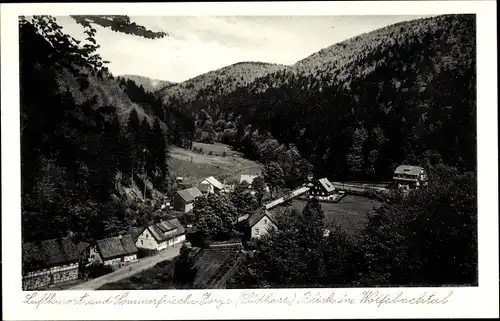
POLYGON ((79 257, 76 244, 67 237, 23 244, 23 270, 76 263, 79 257))

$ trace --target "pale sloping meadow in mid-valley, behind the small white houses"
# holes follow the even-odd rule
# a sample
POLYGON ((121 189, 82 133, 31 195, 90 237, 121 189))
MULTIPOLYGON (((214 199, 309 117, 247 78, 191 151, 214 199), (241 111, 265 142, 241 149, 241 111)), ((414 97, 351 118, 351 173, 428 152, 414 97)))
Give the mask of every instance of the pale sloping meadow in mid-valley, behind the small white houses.
POLYGON ((193 147, 203 148, 204 153, 195 153, 178 147, 170 151, 170 170, 174 176, 182 177, 186 185, 196 185, 209 176, 214 176, 221 182, 224 179, 231 182, 236 181, 241 174, 261 173, 259 163, 245 159, 237 153, 233 155, 233 151, 227 145, 193 143, 193 147), (217 155, 208 155, 208 151, 217 155), (226 157, 219 156, 224 151, 231 152, 227 152, 226 157))

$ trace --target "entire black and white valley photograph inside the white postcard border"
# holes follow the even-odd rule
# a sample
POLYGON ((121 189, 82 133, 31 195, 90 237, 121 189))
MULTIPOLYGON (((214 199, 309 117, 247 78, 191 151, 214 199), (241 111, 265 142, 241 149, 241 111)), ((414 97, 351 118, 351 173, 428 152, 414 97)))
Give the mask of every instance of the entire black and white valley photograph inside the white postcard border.
POLYGON ((17 16, 20 291, 480 285, 475 13, 122 12, 17 16))

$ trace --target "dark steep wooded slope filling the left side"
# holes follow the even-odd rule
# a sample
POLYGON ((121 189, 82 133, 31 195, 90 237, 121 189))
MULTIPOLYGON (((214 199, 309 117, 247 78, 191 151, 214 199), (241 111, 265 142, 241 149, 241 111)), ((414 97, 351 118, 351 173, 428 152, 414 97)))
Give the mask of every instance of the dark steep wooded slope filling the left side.
POLYGON ((95 29, 84 29, 87 39, 79 42, 53 17, 20 18, 25 242, 69 233, 104 238, 134 226, 147 209, 131 209, 120 199, 132 172, 142 174, 142 184, 168 187, 168 142, 159 118, 152 117, 151 126, 144 117, 141 124, 134 109, 123 123, 119 101, 97 104, 99 97, 86 94, 91 83, 112 76, 95 53, 95 29), (87 96, 77 102, 75 94, 79 101, 87 96))

